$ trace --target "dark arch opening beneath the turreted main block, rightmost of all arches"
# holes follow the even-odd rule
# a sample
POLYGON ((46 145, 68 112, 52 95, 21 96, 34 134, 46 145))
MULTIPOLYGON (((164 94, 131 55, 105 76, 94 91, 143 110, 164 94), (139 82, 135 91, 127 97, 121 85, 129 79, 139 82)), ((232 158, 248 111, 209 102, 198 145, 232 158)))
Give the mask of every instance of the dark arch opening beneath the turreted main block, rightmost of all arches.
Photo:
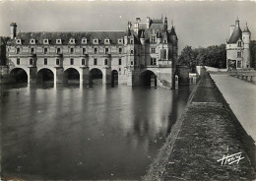
POLYGON ((158 82, 157 82, 157 75, 151 71, 151 70, 146 70, 141 73, 140 75, 140 86, 142 87, 157 87, 158 82))

